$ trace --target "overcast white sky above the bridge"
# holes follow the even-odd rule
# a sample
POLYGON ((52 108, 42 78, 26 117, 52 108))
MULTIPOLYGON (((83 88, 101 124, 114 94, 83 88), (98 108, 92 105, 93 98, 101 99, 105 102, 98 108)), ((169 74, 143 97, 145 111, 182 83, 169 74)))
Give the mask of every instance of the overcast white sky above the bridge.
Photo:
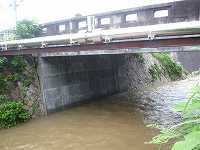
MULTIPOLYGON (((15 0, 0 0, 0 30, 14 25, 15 0)), ((17 0, 20 1, 20 0, 17 0)), ((137 6, 177 0, 23 0, 17 9, 18 20, 37 19, 40 23, 137 6)))

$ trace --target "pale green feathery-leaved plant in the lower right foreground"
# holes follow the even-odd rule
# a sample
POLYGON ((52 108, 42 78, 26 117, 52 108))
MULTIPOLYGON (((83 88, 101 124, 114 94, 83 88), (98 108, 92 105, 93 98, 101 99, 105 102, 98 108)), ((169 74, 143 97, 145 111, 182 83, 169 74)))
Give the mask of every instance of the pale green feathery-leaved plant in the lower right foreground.
POLYGON ((160 134, 149 143, 163 145, 170 140, 177 141, 172 150, 200 149, 200 85, 193 88, 187 102, 178 104, 174 111, 182 115, 182 122, 170 128, 150 127, 160 129, 160 134))

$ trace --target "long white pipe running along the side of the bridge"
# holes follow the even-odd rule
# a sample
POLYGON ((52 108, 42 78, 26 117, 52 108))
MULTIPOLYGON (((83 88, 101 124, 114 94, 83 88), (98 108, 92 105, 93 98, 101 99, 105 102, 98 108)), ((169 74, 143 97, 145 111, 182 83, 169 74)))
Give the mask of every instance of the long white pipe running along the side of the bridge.
POLYGON ((129 40, 156 40, 178 36, 194 36, 200 34, 200 21, 168 23, 159 25, 128 27, 94 31, 90 33, 74 33, 32 39, 0 42, 1 50, 45 48, 52 46, 74 46, 98 43, 113 43, 129 40))

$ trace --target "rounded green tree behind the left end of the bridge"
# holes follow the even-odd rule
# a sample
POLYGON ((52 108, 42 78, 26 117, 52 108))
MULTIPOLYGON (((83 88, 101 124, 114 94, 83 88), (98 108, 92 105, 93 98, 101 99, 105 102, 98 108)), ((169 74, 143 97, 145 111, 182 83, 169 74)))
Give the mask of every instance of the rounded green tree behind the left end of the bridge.
POLYGON ((22 20, 17 22, 16 36, 17 39, 34 38, 42 31, 41 26, 33 20, 22 20))

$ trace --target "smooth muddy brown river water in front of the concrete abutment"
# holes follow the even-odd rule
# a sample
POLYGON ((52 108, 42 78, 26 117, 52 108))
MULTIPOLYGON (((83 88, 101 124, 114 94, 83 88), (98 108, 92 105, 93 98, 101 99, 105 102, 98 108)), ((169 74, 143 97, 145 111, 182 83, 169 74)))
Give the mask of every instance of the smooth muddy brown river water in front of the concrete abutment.
POLYGON ((1 150, 153 150, 153 132, 123 96, 73 107, 0 131, 1 150))

